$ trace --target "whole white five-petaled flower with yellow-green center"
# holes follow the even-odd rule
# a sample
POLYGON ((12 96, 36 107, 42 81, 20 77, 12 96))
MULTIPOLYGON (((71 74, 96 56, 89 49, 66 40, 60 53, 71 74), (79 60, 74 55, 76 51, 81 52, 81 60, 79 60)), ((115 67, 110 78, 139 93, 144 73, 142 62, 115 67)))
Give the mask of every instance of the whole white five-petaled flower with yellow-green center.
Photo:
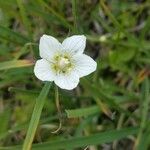
POLYGON ((62 43, 52 36, 40 39, 40 57, 34 73, 42 81, 54 81, 62 89, 71 90, 79 83, 79 78, 96 70, 96 62, 83 54, 86 46, 84 35, 74 35, 62 43))

